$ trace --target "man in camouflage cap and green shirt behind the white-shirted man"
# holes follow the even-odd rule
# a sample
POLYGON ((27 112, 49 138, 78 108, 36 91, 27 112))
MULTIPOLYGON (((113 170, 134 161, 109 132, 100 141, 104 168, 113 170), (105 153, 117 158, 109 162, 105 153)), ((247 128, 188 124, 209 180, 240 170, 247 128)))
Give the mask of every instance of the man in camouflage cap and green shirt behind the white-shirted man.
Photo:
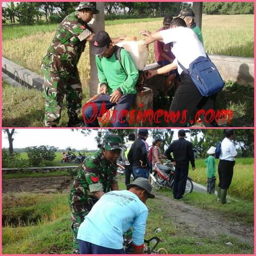
POLYGON ((186 22, 187 27, 191 28, 197 34, 199 41, 204 44, 203 35, 201 29, 196 25, 195 13, 193 10, 190 8, 182 9, 178 18, 183 19, 186 22))

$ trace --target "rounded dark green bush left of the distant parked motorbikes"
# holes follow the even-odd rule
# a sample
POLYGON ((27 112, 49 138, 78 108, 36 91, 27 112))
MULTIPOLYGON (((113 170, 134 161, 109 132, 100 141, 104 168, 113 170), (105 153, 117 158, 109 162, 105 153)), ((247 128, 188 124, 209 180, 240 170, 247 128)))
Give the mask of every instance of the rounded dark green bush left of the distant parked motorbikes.
POLYGON ((25 149, 30 165, 35 167, 43 166, 44 160, 52 162, 56 157, 56 151, 57 148, 49 146, 34 146, 25 149))

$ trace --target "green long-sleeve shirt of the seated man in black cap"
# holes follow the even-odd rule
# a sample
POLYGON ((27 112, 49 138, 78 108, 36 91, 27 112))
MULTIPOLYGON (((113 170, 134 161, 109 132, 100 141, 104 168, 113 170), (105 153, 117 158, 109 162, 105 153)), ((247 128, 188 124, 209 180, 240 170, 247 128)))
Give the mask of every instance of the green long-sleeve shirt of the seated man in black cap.
POLYGON ((115 89, 121 89, 123 94, 136 94, 135 85, 139 78, 139 72, 135 66, 133 57, 129 52, 121 49, 121 63, 115 58, 115 53, 109 58, 96 56, 98 68, 98 78, 100 84, 106 83, 108 93, 111 94, 115 89))

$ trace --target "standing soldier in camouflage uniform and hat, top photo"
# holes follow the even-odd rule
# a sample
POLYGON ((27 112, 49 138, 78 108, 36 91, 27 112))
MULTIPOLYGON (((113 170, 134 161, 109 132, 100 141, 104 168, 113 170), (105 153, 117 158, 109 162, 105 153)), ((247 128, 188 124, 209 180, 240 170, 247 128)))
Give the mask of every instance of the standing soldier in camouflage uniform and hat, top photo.
POLYGON ((87 23, 99 11, 88 2, 80 3, 75 10, 60 23, 42 61, 46 126, 56 126, 59 122, 65 95, 68 126, 73 127, 81 122, 77 117, 82 102, 77 63, 86 41, 91 41, 93 37, 93 31, 87 23))

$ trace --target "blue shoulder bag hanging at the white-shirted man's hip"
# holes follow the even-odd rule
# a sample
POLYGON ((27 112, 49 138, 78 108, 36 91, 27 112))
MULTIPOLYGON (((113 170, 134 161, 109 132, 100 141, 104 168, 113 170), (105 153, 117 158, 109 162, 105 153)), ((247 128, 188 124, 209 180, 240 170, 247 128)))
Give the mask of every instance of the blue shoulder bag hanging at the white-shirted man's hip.
POLYGON ((188 69, 185 69, 179 61, 178 64, 191 77, 201 95, 209 97, 222 90, 224 82, 208 55, 196 58, 189 64, 188 69))

